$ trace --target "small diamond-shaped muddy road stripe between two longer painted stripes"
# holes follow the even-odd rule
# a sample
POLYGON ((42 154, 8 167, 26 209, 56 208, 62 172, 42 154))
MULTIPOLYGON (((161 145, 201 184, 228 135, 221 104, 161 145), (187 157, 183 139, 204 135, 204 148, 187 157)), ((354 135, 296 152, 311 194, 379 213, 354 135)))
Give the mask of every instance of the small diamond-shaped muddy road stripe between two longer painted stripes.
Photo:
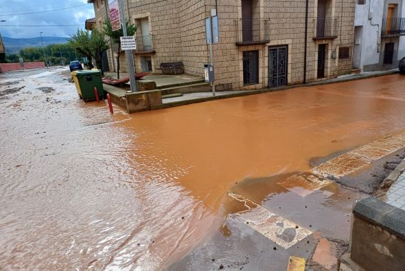
POLYGON ((288 177, 286 180, 277 182, 279 186, 283 186, 283 188, 286 188, 301 197, 306 197, 331 183, 332 182, 325 177, 307 172, 297 173, 288 177))

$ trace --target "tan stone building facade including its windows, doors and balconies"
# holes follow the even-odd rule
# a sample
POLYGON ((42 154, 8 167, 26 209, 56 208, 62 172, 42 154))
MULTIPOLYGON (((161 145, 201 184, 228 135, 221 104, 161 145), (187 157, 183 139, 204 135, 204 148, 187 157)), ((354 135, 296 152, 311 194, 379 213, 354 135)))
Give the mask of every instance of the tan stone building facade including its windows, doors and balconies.
MULTIPOLYGON (((105 1, 91 1, 97 26, 108 12, 105 1)), ((307 83, 351 73, 352 0, 309 0, 306 64, 305 0, 123 1, 126 16, 138 26, 137 72, 159 74, 161 63, 181 61, 186 74, 204 76, 204 63, 209 63, 205 18, 216 8, 217 90, 299 84, 304 81, 304 69, 307 83)), ((122 63, 126 63, 124 54, 122 63)), ((116 63, 110 67, 116 69, 116 63)), ((126 65, 121 69, 126 71, 126 65)))

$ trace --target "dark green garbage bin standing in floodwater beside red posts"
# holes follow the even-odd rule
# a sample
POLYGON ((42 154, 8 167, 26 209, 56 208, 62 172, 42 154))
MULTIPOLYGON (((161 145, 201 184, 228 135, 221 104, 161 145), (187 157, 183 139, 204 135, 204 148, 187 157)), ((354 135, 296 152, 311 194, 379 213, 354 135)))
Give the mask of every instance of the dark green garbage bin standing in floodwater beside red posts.
POLYGON ((104 99, 105 93, 100 70, 72 72, 78 94, 83 100, 95 100, 94 88, 97 87, 98 97, 104 99))

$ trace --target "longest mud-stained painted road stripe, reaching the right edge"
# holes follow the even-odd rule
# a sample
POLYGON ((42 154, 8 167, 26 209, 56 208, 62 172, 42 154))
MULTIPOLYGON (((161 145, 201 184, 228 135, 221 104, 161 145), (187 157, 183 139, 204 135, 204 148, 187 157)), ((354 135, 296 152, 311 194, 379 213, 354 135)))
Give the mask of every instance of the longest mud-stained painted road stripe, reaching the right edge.
POLYGON ((323 177, 343 177, 362 169, 371 162, 405 147, 405 131, 380 138, 343 155, 339 155, 319 166, 312 172, 323 177))

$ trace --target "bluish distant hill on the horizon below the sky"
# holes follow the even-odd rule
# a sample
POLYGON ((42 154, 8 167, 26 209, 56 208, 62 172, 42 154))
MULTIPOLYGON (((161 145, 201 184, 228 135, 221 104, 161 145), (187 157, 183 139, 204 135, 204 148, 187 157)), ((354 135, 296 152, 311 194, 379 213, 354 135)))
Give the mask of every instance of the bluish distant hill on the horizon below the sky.
MULTIPOLYGON (((5 45, 6 54, 16 54, 19 53, 21 49, 25 47, 40 47, 42 43, 40 42, 40 36, 31 39, 12 39, 7 36, 3 36, 3 43, 5 45)), ((43 36, 43 43, 45 45, 56 44, 56 43, 67 43, 67 39, 60 36, 43 36)))

